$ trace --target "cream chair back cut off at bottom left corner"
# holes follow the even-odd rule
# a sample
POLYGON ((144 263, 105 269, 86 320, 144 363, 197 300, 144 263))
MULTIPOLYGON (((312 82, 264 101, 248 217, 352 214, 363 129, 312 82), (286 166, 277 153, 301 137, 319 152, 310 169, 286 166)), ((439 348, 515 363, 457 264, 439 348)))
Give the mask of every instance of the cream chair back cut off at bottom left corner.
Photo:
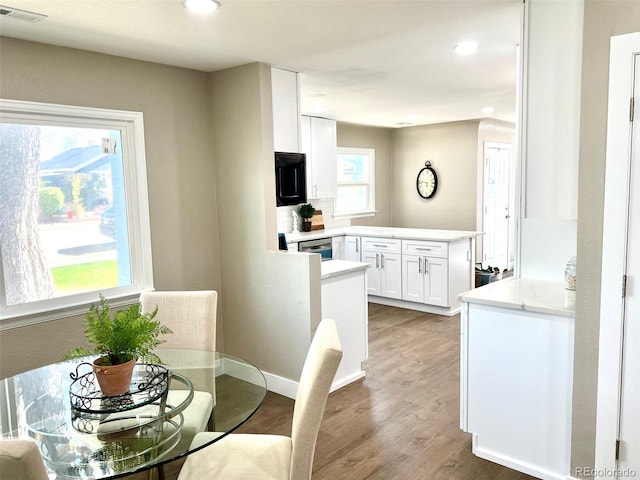
POLYGON ((49 480, 38 446, 33 440, 0 440, 0 478, 49 480))

